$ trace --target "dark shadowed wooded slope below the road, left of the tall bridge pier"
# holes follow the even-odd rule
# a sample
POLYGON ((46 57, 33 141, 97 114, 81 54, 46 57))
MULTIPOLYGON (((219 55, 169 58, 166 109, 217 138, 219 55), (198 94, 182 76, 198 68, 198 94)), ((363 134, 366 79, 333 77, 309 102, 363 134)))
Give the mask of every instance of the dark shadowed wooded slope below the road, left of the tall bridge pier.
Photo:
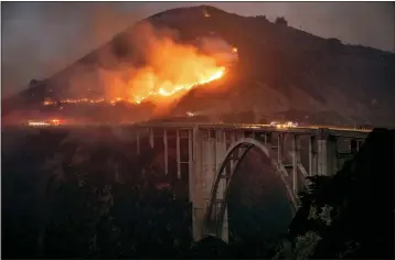
POLYGON ((3 156, 4 258, 245 257, 249 250, 268 257, 269 247, 274 253, 265 234, 247 248, 246 230, 232 247, 216 238, 194 243, 186 183, 163 176, 158 151, 138 156, 135 143, 106 128, 22 139, 3 156))

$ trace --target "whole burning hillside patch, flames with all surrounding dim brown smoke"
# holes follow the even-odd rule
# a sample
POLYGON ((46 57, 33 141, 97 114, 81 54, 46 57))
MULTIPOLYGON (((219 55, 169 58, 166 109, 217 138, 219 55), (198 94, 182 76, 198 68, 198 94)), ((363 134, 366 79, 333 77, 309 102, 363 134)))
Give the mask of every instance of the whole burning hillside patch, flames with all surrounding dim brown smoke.
POLYGON ((26 98, 40 105, 22 106, 29 111, 11 121, 83 117, 84 121, 120 122, 167 113, 193 88, 215 91, 218 84, 210 83, 222 78, 238 57, 235 46, 221 37, 195 40, 181 41, 177 31, 141 22, 122 39, 132 52, 119 56, 119 50, 105 46, 94 55, 98 64, 87 63, 88 55, 42 84, 34 80, 26 98), (134 106, 141 104, 153 107, 134 106), (40 115, 33 116, 32 110, 40 115))

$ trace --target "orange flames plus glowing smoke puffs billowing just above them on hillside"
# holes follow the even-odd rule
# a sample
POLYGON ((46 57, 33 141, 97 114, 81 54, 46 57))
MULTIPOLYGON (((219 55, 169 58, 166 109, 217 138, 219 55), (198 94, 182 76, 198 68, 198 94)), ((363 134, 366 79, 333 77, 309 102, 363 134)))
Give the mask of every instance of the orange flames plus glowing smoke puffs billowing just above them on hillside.
MULTIPOLYGON (((212 47, 207 53, 192 44, 177 42, 174 33, 154 29, 149 23, 141 23, 135 30, 138 31, 139 36, 130 36, 128 42, 137 48, 138 55, 142 56, 143 65, 120 61, 113 52, 102 53, 100 59, 105 64, 115 63, 115 68, 78 69, 73 74, 68 86, 71 93, 78 98, 63 98, 56 101, 46 98, 44 105, 58 101, 62 104, 150 101, 161 106, 172 102, 194 87, 223 77, 229 54, 232 57, 235 56, 234 47, 223 40, 221 40, 222 52, 215 52, 215 47, 214 51, 212 47), (226 52, 228 55, 224 57, 226 52), (94 75, 89 77, 89 74, 94 75), (86 93, 97 88, 95 84, 102 86, 104 97, 87 98, 86 93)), ((206 40, 205 44, 210 45, 212 41, 206 40)))

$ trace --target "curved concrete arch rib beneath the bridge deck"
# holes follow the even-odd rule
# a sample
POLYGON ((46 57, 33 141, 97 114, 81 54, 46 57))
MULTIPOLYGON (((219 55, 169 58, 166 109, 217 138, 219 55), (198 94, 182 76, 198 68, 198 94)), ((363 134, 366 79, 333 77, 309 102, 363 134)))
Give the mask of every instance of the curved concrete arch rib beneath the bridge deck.
POLYGON ((258 148, 270 161, 271 164, 276 169, 276 173, 280 176, 281 182, 284 183, 287 195, 292 202, 292 212, 295 213, 297 210, 298 199, 297 195, 293 194, 292 189, 290 188, 289 184, 285 180, 284 173, 281 173, 280 166, 277 164, 276 160, 273 159, 270 155, 270 150, 259 140, 253 139, 253 138, 244 138, 239 141, 236 141, 233 143, 228 150, 226 151, 225 159, 221 163, 220 167, 216 170, 215 174, 215 181, 211 191, 210 196, 210 204, 207 206, 205 217, 204 217, 204 228, 206 235, 221 237, 223 224, 224 224, 224 217, 225 217, 225 210, 226 210, 226 202, 228 201, 229 195, 229 184, 232 183, 233 175, 238 171, 241 163, 245 159, 245 156, 248 154, 250 149, 258 148), (238 152, 242 151, 242 152, 238 152), (238 156, 233 158, 234 153, 237 152, 238 156), (231 171, 227 172, 226 167, 229 165, 232 161, 236 161, 234 163, 234 166, 231 167, 231 171), (220 183, 221 181, 225 181, 225 187, 223 193, 218 194, 220 183), (222 196, 221 198, 218 198, 222 196), (217 204, 220 203, 220 212, 216 210, 213 212, 214 206, 216 209, 217 204))

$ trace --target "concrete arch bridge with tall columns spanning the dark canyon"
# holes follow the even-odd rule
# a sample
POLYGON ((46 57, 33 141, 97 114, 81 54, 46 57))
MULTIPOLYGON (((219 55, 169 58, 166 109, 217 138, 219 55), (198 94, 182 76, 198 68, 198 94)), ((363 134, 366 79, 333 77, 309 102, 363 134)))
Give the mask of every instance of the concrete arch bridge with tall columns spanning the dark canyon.
POLYGON ((224 241, 228 241, 228 186, 252 148, 269 158, 297 208, 306 177, 334 174, 370 132, 338 127, 277 129, 267 124, 174 122, 141 123, 132 129, 137 153, 143 145, 163 151, 164 174, 171 164, 169 149, 175 150, 177 177, 188 178, 194 240, 211 235, 224 241))

